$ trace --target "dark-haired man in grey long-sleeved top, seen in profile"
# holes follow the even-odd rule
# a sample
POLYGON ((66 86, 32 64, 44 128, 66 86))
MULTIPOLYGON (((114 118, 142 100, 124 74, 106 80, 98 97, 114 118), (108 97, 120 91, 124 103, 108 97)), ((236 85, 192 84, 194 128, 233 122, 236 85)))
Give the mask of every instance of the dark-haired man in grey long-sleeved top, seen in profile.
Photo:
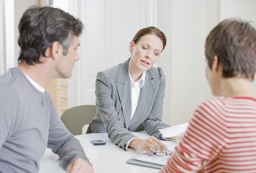
POLYGON ((31 7, 19 23, 19 65, 0 76, 0 172, 34 173, 45 148, 67 172, 93 172, 44 88, 69 78, 83 24, 61 9, 31 7))

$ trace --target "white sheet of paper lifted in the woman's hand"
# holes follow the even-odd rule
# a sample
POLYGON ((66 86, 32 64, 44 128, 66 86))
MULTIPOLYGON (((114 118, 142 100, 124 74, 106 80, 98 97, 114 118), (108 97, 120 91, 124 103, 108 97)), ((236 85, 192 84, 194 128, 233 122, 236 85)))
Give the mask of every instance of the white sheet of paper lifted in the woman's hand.
POLYGON ((170 137, 174 137, 174 136, 182 136, 187 128, 188 128, 189 123, 184 123, 184 124, 179 124, 176 126, 171 126, 171 127, 167 127, 167 128, 163 128, 163 129, 159 129, 159 131, 162 133, 162 135, 165 138, 170 138, 170 137))

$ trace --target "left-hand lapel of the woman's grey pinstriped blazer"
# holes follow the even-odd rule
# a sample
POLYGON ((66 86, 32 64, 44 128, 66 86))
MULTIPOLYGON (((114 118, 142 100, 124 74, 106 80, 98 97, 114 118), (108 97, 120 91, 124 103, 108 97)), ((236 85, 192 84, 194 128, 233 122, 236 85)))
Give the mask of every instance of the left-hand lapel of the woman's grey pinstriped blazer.
POLYGON ((131 110, 132 110, 131 87, 130 87, 129 72, 128 72, 129 60, 130 59, 120 64, 118 76, 116 79, 117 93, 122 104, 123 116, 124 116, 126 128, 129 127, 129 123, 131 119, 131 110))

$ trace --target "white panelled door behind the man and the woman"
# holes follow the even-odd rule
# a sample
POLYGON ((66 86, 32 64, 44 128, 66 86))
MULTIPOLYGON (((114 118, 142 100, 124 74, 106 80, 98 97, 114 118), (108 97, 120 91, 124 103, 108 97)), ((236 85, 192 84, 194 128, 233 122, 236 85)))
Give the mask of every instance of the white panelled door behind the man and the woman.
POLYGON ((155 15, 154 0, 76 2, 77 10, 74 7, 73 13, 82 20, 84 30, 80 37, 80 61, 68 80, 68 107, 95 105, 97 72, 127 60, 133 36, 141 28, 154 25, 155 15))

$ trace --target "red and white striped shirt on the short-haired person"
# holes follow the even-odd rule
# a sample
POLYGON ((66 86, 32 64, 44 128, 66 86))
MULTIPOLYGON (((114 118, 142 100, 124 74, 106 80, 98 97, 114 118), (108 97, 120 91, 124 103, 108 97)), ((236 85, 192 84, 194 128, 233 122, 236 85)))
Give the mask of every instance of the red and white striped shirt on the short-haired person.
POLYGON ((230 97, 200 105, 161 173, 256 173, 256 99, 230 97))

